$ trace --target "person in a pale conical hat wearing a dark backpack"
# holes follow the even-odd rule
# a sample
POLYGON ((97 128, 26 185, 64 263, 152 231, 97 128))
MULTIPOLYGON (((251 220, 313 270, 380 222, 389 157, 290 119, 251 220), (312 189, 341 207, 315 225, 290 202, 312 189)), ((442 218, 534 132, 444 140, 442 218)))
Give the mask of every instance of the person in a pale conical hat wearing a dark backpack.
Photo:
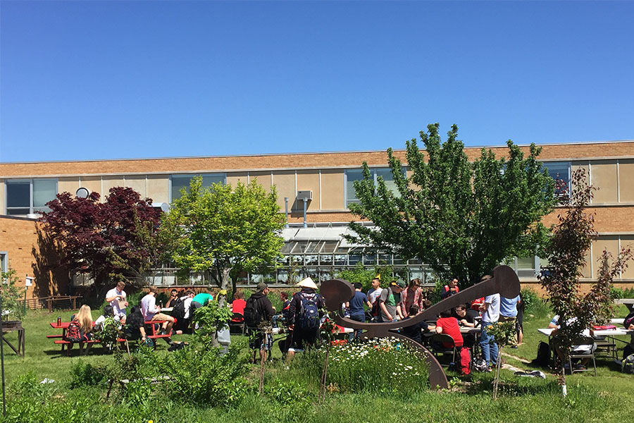
POLYGON ((297 286, 302 290, 293 295, 288 310, 288 327, 293 331, 293 340, 288 349, 287 364, 295 353, 302 353, 315 343, 321 326, 319 310, 324 306, 323 297, 317 293, 311 278, 305 278, 297 286))

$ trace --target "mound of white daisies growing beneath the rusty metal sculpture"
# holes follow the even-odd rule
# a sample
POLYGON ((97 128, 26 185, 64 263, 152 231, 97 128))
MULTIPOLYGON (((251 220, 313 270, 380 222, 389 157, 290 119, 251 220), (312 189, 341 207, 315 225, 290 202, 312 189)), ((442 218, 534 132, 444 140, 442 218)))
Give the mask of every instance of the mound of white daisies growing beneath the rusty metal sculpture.
MULTIPOLYGON (((325 348, 306 353, 294 365, 319 380, 325 348)), ((397 338, 332 346, 326 384, 342 393, 399 393, 406 395, 429 387, 429 368, 418 352, 397 338)))

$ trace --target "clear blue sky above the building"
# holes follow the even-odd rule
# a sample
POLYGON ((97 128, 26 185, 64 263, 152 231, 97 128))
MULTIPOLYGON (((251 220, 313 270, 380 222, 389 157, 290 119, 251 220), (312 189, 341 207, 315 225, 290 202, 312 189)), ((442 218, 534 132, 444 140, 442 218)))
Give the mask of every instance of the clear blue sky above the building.
POLYGON ((1 1, 0 161, 634 139, 634 2, 1 1))

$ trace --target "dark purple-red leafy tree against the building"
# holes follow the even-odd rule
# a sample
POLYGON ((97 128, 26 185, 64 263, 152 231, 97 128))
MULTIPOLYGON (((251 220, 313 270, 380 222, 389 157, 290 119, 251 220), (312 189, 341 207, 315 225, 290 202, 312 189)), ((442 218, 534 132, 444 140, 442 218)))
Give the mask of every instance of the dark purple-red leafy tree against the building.
POLYGON ((97 192, 87 198, 63 192, 46 204, 51 211, 40 221, 63 252, 59 264, 69 271, 89 274, 98 287, 111 277, 142 281, 162 252, 160 212, 151 204, 132 188, 111 188, 103 203, 97 192))

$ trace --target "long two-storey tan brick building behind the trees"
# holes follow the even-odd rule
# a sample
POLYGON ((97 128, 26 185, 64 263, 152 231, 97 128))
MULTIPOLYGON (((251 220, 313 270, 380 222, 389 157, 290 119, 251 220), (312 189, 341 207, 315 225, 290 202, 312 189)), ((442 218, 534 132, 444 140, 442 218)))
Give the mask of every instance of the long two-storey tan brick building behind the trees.
MULTIPOLYGON (((488 148, 498 157, 506 154, 506 146, 488 148)), ((523 149, 528 152, 528 147, 523 149)), ((480 147, 467 148, 466 152, 470 159, 475 159, 480 154, 480 147)), ((403 150, 396 154, 404 161, 403 150)), ((604 248, 616 253, 621 246, 634 247, 634 142, 543 145, 540 160, 552 176, 564 178, 569 178, 574 169, 583 167, 590 174, 590 183, 599 188, 590 207, 591 212, 596 212, 595 228, 599 239, 592 245, 590 264, 584 270, 586 280, 592 281, 596 277, 597 257, 604 248)), ((110 188, 128 186, 142 197, 150 197, 157 205, 170 203, 180 195, 180 188, 189 184, 191 176, 202 175, 205 185, 215 182, 235 184, 239 180, 247 183, 254 178, 262 185, 275 185, 280 209, 284 212, 287 207, 289 213, 290 228, 282 234, 287 240, 282 252, 297 259, 304 274, 328 278, 340 269, 362 262, 366 266, 392 264, 394 268, 407 269, 409 276, 429 280, 430 271, 423 263, 404 262, 392 255, 365 254, 362 246, 349 245, 342 240, 347 222, 353 219, 347 204, 356 201, 352 183, 361 178, 363 161, 368 162, 375 176, 383 176, 389 183, 391 174, 385 152, 0 164, 0 215, 5 215, 0 216, 0 265, 6 269, 11 262, 11 266, 18 270, 20 281, 26 274, 38 279, 48 278, 46 283, 38 281, 38 286, 48 287, 50 293, 68 290, 63 275, 33 274, 37 260, 32 254, 29 257, 30 250, 35 246, 34 252, 39 253, 42 240, 38 238, 35 222, 29 217, 45 209, 46 202, 58 192, 75 193, 78 188, 99 192, 103 198, 110 188), (306 201, 306 228, 303 197, 310 197, 306 201), (288 204, 285 204, 285 198, 288 204), (15 216, 22 217, 15 219, 15 216)), ((556 217, 557 210, 545 216, 544 221, 554 223, 556 217)), ((49 262, 51 260, 54 261, 49 259, 49 262)), ((539 257, 517 258, 514 266, 523 283, 536 282, 539 257)), ((272 275, 246 275, 245 281, 256 283, 266 278, 284 283, 288 272, 293 270, 282 267, 272 275)), ((204 278, 192 276, 192 280, 200 277, 204 278)), ((173 277, 163 275, 159 283, 173 281, 173 277)), ((618 282, 623 287, 634 286, 634 266, 630 266, 618 282)))

